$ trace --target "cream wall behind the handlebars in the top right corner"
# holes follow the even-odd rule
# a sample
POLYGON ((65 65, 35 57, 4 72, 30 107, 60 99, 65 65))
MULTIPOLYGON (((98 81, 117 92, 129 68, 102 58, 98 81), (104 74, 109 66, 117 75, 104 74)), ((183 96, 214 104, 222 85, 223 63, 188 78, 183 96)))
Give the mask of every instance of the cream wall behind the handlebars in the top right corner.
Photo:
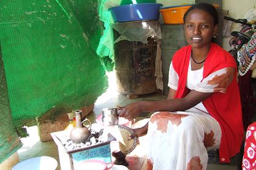
MULTIPOLYGON (((229 16, 234 19, 243 19, 244 15, 248 10, 254 9, 256 7, 256 0, 223 0, 222 10, 229 10, 229 16)), ((233 23, 231 30, 240 31, 240 24, 233 23)), ((229 50, 229 39, 230 37, 224 37, 222 39, 222 47, 229 50)))

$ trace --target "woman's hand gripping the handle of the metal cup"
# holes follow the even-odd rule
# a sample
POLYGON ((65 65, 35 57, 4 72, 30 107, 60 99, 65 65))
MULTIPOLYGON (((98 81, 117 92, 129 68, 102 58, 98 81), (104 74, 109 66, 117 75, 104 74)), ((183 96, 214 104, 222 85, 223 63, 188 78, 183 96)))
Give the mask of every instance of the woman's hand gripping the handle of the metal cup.
POLYGON ((118 114, 119 117, 124 117, 127 120, 133 120, 141 113, 140 104, 135 102, 128 104, 124 107, 117 106, 121 112, 118 114))

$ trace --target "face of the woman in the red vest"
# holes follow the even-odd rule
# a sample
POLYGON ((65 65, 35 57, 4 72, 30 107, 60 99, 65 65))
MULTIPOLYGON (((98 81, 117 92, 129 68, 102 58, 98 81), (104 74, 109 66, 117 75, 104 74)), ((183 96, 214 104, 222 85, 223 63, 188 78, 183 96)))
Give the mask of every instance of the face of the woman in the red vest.
POLYGON ((217 25, 214 25, 213 17, 200 9, 191 10, 185 19, 185 36, 188 44, 193 48, 210 47, 210 42, 217 25))

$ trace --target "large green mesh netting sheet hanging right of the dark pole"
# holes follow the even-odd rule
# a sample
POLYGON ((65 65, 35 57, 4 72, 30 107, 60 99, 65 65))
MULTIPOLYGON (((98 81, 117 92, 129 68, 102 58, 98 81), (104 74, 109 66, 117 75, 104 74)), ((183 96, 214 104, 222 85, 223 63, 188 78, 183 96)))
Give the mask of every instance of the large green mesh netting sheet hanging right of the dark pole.
POLYGON ((107 77, 95 52, 102 30, 97 7, 91 0, 0 1, 15 127, 34 125, 51 110, 90 106, 105 91, 107 77))

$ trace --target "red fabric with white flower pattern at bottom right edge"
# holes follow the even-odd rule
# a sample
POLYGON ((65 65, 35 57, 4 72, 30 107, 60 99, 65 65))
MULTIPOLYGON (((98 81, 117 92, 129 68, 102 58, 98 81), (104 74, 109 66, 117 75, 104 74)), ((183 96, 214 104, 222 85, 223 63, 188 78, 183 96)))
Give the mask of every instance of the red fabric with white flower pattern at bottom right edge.
POLYGON ((242 163, 243 170, 256 169, 256 121, 252 123, 246 131, 244 143, 244 157, 242 163))

